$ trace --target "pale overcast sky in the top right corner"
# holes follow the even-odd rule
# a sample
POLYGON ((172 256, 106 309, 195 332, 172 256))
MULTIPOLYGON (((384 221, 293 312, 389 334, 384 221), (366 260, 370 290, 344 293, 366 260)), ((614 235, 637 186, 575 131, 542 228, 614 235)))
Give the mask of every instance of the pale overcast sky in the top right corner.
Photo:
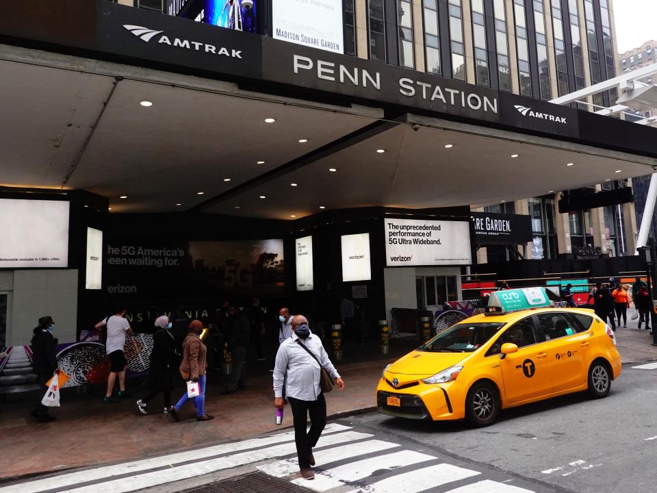
POLYGON ((619 53, 657 39, 657 0, 614 0, 619 53))

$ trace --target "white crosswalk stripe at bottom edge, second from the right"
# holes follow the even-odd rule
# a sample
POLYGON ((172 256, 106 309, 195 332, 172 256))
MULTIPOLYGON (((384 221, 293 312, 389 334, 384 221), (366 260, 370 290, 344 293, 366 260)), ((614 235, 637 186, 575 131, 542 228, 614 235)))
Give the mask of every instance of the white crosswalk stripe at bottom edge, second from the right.
POLYGON ((420 493, 446 483, 452 483, 452 481, 480 474, 480 472, 450 464, 437 464, 381 479, 381 481, 357 488, 349 493, 420 493))

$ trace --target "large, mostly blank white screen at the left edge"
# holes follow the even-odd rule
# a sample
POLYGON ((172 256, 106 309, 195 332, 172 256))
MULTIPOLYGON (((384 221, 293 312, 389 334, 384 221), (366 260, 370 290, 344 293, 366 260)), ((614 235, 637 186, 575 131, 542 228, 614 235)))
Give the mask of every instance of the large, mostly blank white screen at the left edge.
POLYGON ((68 267, 68 201, 0 199, 0 268, 68 267))

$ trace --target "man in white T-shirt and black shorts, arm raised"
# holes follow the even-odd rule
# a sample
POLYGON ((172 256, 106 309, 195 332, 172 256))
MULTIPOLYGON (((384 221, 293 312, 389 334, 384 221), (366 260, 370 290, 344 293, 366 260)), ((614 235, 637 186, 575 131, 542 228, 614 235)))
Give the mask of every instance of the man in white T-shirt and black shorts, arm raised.
POLYGON ((96 324, 97 330, 107 327, 105 353, 107 353, 107 357, 110 359, 110 376, 107 377, 107 393, 103 399, 106 404, 117 401, 112 396, 116 375, 118 375, 118 396, 125 395, 125 368, 127 367, 127 359, 125 359, 123 349, 125 347, 126 333, 132 334, 130 323, 125 318, 125 312, 125 308, 122 308, 116 314, 96 324))

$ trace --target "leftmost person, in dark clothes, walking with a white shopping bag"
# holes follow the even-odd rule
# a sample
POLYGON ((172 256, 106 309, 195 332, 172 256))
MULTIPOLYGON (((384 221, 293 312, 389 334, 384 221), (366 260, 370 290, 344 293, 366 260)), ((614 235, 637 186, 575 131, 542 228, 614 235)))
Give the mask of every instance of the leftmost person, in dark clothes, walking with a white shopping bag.
POLYGON ((38 394, 39 400, 31 413, 38 422, 55 420, 55 416, 50 416, 48 407, 41 403, 44 387, 47 387, 46 384, 53 377, 53 374, 60 372, 57 368, 57 357, 55 355, 57 339, 53 336, 54 330, 55 320, 51 316, 42 316, 39 318, 39 325, 34 328, 34 336, 32 336, 30 343, 32 348, 32 369, 37 375, 37 382, 41 389, 38 394))

